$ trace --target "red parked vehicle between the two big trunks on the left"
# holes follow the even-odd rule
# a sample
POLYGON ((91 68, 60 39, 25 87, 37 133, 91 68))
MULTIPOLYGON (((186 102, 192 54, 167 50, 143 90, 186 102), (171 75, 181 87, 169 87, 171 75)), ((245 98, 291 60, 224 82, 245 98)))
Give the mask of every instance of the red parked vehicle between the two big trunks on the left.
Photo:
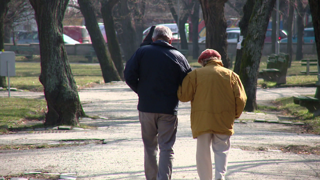
POLYGON ((91 43, 89 32, 85 26, 63 26, 63 34, 80 43, 91 43))

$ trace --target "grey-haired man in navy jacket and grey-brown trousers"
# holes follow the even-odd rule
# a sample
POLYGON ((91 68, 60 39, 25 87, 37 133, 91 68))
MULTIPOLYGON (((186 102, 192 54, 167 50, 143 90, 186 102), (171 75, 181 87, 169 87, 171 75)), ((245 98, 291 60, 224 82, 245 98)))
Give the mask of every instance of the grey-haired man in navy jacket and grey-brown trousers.
POLYGON ((177 91, 191 68, 171 45, 172 32, 168 27, 157 26, 152 40, 153 43, 141 46, 127 62, 124 79, 139 96, 146 179, 168 180, 172 174, 178 126, 177 91))

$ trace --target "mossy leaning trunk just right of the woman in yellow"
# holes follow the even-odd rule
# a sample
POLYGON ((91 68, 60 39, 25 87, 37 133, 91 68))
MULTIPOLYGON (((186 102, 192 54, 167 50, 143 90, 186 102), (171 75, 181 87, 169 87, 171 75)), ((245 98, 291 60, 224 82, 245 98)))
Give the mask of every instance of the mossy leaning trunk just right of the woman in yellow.
POLYGON ((256 109, 257 79, 264 37, 267 32, 272 8, 276 0, 257 0, 252 11, 239 76, 247 94, 245 110, 256 109))

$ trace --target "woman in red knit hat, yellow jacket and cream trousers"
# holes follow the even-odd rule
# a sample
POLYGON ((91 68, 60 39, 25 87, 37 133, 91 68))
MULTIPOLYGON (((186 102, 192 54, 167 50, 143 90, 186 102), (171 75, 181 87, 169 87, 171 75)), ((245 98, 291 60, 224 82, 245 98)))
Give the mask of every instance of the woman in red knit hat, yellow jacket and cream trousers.
POLYGON ((188 73, 178 98, 191 101, 191 130, 197 138, 196 165, 200 180, 212 180, 210 146, 215 179, 225 179, 233 124, 244 110, 246 94, 239 76, 223 67, 220 54, 206 49, 198 58, 203 67, 188 73))

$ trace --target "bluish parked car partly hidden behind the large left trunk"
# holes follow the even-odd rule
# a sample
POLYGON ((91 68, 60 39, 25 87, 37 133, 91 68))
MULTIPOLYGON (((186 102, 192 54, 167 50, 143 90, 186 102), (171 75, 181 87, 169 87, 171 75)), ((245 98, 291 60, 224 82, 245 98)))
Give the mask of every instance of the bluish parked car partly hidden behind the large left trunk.
MULTIPOLYGON (((20 31, 15 35, 16 44, 39 43, 38 31, 20 31)), ((80 44, 79 41, 63 34, 64 44, 80 44)))

